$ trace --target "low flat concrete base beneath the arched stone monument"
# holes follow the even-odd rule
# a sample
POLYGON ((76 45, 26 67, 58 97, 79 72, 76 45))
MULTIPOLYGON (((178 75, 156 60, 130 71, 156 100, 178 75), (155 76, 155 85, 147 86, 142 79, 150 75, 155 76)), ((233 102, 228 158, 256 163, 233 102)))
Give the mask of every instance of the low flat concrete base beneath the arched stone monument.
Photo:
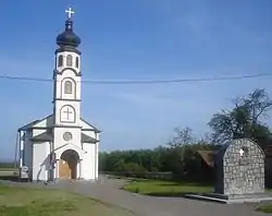
POLYGON ((202 201, 212 201, 224 204, 260 203, 272 201, 272 193, 256 193, 243 195, 225 195, 219 193, 185 194, 185 197, 202 201))

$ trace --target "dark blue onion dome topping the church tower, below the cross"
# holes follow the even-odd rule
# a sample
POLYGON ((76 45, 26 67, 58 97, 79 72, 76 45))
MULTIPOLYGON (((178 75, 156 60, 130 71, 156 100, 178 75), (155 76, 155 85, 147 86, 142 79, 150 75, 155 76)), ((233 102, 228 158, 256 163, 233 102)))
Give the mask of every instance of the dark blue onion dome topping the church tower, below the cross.
POLYGON ((81 38, 73 32, 73 21, 67 19, 65 22, 65 31, 58 35, 57 45, 60 47, 78 47, 81 45, 81 38))

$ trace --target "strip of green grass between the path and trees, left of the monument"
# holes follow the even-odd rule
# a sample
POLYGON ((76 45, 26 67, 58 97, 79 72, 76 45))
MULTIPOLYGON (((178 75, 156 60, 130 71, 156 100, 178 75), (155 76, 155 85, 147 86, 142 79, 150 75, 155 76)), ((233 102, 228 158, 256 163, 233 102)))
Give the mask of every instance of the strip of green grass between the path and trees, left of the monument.
POLYGON ((188 182, 134 180, 124 190, 153 196, 183 196, 185 193, 211 192, 211 185, 188 182))

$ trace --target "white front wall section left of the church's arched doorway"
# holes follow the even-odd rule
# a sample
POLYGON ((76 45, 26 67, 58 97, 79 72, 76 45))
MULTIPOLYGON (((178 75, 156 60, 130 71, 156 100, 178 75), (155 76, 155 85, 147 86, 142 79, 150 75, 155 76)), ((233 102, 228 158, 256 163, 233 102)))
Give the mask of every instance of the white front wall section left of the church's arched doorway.
POLYGON ((50 144, 34 143, 33 145, 33 180, 48 180, 50 168, 50 144))

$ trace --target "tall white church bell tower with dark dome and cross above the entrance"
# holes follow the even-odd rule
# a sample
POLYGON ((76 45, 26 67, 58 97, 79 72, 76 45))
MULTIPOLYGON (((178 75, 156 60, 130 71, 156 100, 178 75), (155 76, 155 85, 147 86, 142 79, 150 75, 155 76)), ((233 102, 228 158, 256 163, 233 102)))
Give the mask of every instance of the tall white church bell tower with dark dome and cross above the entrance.
POLYGON ((81 38, 74 33, 71 9, 65 29, 58 35, 53 72, 53 146, 81 146, 81 38))

